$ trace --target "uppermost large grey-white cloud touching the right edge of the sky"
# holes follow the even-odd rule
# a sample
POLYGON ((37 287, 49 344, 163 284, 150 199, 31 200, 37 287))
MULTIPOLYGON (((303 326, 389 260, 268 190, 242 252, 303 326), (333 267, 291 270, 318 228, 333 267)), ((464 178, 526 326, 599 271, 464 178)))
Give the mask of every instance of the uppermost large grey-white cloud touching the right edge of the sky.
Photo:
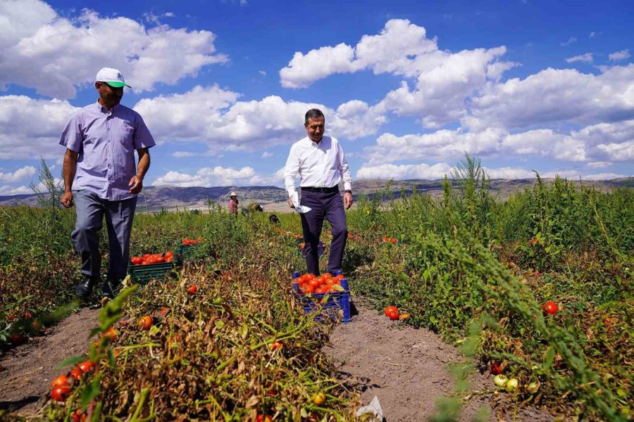
POLYGON ((634 64, 601 75, 548 68, 526 79, 487 84, 471 98, 461 120, 472 131, 514 129, 564 122, 593 124, 634 117, 634 64))

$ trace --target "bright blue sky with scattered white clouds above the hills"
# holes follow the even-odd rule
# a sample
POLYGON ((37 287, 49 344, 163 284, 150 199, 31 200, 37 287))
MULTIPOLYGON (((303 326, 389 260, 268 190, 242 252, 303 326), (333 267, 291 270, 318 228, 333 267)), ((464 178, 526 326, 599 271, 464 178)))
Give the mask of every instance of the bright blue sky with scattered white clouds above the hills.
POLYGON ((0 195, 119 69, 146 185, 283 186, 304 113, 354 180, 634 174, 634 1, 0 0, 0 195), (89 6, 87 6, 89 5, 89 6))

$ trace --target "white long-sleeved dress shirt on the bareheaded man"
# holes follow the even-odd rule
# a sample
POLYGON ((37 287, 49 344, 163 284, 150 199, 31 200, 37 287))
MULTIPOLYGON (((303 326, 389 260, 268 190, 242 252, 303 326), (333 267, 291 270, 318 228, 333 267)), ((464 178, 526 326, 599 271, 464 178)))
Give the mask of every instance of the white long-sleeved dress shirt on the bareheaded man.
POLYGON ((295 192, 294 179, 298 173, 302 187, 332 188, 343 180, 344 189, 352 189, 352 176, 341 144, 331 136, 323 136, 319 143, 306 136, 291 146, 284 169, 288 196, 295 192))

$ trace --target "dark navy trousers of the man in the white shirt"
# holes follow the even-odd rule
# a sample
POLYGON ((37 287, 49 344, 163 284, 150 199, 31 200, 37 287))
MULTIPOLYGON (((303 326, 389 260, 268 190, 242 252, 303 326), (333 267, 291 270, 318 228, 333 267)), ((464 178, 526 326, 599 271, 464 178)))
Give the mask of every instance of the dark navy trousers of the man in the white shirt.
POLYGON ((307 191, 302 188, 302 200, 299 203, 311 208, 311 211, 306 212, 306 214, 300 214, 302 217, 302 229, 304 229, 304 253, 306 253, 308 272, 316 276, 321 274, 319 272, 317 247, 324 219, 327 219, 330 222, 330 226, 332 226, 328 271, 342 269, 343 252, 348 238, 348 227, 339 188, 335 186, 329 192, 307 191))

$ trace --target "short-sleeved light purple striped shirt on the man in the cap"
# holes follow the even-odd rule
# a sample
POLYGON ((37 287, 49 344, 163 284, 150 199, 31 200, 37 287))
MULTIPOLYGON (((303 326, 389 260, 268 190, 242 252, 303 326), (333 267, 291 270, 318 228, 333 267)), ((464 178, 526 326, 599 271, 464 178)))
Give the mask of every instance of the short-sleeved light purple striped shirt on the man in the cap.
POLYGON ((156 145, 141 115, 131 108, 111 110, 93 103, 66 124, 59 144, 79 153, 73 191, 87 189, 99 198, 132 198, 130 179, 137 174, 135 150, 156 145))

